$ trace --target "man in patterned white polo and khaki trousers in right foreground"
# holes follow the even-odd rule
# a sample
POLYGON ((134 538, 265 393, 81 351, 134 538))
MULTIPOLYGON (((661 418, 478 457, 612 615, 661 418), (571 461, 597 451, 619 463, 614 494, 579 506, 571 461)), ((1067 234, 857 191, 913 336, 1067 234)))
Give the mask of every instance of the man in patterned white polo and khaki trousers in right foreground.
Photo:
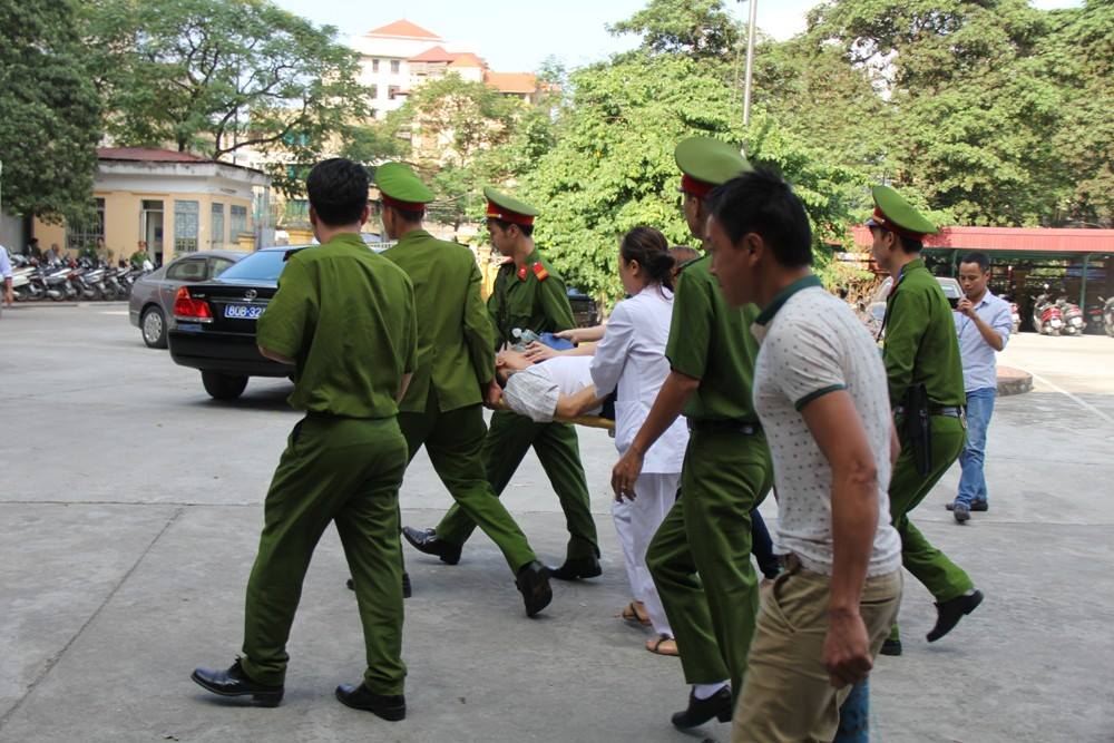
POLYGON ((781 177, 760 168, 709 199, 712 273, 729 305, 762 309, 754 404, 786 554, 763 597, 733 741, 830 741, 901 599, 886 370, 854 312, 812 274, 809 221, 781 177))

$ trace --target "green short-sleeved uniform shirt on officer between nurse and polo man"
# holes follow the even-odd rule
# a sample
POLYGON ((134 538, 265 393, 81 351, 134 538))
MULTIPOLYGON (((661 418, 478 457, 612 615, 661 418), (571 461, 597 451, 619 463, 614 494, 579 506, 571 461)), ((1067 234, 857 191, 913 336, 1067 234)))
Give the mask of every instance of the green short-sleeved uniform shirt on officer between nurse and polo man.
POLYGON ((756 422, 751 383, 759 346, 751 324, 759 309, 729 307, 711 266, 712 256, 704 255, 677 276, 665 355, 674 371, 700 380, 687 418, 756 422))

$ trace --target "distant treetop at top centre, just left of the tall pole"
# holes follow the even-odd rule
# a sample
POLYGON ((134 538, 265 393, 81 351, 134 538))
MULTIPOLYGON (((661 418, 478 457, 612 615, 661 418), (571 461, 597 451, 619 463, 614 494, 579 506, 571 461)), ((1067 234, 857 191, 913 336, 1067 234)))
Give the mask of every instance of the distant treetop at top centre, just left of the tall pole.
POLYGON ((631 18, 607 27, 615 36, 637 33, 642 49, 698 59, 734 53, 741 31, 723 0, 649 0, 631 18))

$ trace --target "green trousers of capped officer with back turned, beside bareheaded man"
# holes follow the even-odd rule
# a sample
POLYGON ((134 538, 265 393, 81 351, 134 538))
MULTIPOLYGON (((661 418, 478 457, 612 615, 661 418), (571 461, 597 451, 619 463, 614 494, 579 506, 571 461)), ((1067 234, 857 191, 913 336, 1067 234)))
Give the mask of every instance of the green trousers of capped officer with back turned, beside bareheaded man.
MULTIPOLYGON (((440 412, 430 385, 426 411, 399 413, 399 426, 407 438, 410 459, 426 447, 433 470, 456 501, 456 508, 502 550, 511 573, 517 574, 524 565, 537 559, 526 535, 487 480, 482 459, 487 427, 478 403, 440 412)), ((440 528, 437 534, 441 538, 440 528)))

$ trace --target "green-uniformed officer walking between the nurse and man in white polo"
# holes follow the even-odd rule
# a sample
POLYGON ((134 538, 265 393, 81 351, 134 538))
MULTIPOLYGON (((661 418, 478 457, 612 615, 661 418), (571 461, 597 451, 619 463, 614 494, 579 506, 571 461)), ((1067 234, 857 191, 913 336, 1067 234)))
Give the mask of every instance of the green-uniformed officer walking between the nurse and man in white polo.
MULTIPOLYGON (((707 137, 685 139, 675 158, 683 174, 685 218, 693 235, 704 239, 704 197, 750 166, 733 147, 707 137)), ((646 551, 685 681, 692 684, 688 707, 673 715, 673 724, 682 729, 712 717, 730 720, 732 690, 743 687, 759 609, 751 510, 773 478, 751 398, 758 355, 751 324, 759 310, 729 307, 711 262, 705 255, 677 276, 665 349, 672 372, 612 473, 616 495, 631 493, 643 452, 684 412, 692 436, 681 492, 646 551)))

